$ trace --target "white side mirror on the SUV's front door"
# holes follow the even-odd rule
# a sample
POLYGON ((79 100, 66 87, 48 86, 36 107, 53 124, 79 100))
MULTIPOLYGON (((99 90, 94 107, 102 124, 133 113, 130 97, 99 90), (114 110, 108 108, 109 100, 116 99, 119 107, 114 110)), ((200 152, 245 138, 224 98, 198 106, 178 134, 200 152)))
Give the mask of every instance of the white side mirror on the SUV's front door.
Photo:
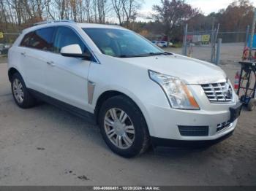
POLYGON ((84 54, 78 44, 70 44, 61 48, 61 55, 91 60, 91 54, 84 54))

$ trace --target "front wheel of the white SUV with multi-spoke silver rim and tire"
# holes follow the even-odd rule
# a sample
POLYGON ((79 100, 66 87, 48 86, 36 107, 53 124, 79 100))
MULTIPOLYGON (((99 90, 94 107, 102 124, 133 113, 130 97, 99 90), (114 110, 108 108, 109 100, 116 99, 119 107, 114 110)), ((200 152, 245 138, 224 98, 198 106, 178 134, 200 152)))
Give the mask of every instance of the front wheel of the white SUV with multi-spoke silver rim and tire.
POLYGON ((103 139, 116 154, 129 158, 148 149, 150 141, 146 120, 127 96, 117 95, 105 101, 99 110, 98 120, 103 139))

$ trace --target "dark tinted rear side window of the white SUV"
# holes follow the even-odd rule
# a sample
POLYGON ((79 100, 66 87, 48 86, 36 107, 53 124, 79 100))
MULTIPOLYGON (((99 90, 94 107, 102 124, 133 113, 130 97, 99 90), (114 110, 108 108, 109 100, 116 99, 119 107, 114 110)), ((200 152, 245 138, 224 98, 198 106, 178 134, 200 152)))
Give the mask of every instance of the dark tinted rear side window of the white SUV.
POLYGON ((41 28, 37 31, 26 34, 20 44, 23 47, 31 47, 38 50, 53 50, 54 28, 41 28))

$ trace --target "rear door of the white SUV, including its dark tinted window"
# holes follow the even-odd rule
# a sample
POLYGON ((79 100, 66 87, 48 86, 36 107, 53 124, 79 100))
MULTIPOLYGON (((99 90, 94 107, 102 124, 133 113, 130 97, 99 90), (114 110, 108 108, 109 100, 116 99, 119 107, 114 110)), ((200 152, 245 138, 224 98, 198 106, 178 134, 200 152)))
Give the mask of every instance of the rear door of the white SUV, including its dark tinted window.
POLYGON ((20 43, 21 63, 27 87, 46 93, 45 69, 53 50, 54 28, 41 28, 26 34, 20 43))

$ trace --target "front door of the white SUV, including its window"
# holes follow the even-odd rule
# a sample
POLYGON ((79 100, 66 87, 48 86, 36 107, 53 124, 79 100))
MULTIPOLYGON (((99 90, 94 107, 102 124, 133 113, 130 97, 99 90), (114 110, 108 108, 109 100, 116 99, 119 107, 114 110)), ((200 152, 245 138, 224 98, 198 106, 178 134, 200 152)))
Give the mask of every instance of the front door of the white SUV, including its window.
POLYGON ((89 52, 75 29, 59 26, 53 41, 53 54, 48 58, 47 94, 67 104, 87 110, 89 101, 87 77, 91 61, 61 55, 61 48, 70 44, 78 44, 83 53, 89 52))

